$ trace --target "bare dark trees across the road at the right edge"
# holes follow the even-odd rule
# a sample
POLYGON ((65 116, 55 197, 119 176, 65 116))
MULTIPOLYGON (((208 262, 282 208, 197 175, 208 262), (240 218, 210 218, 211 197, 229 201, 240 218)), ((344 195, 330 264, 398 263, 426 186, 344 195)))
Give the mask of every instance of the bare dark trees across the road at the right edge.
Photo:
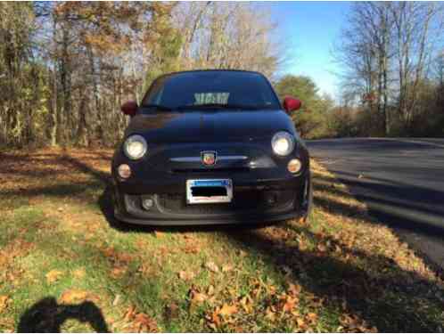
POLYGON ((443 14, 436 3, 353 5, 335 50, 338 136, 444 135, 443 14))

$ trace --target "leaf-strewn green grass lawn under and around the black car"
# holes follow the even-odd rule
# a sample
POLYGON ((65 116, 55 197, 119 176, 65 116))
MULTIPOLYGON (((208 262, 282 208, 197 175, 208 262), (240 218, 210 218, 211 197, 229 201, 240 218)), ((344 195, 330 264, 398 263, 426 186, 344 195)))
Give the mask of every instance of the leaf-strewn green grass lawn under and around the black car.
POLYGON ((0 331, 443 330, 443 281, 316 162, 307 223, 153 229, 112 219, 111 154, 0 153, 0 331))

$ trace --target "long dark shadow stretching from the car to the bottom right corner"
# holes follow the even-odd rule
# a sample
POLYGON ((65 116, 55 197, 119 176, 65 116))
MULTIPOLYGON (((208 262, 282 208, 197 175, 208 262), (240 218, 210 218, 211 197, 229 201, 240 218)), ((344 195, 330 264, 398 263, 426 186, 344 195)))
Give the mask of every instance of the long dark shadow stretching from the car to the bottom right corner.
MULTIPOLYGON (((284 226, 273 229, 279 234, 284 226)), ((328 238, 315 236, 306 228, 299 230, 322 243, 328 241, 328 238)), ((373 256, 340 245, 344 255, 358 258, 352 264, 326 253, 302 251, 265 231, 228 231, 227 234, 234 247, 260 254, 269 265, 275 266, 276 271, 283 271, 284 266, 291 268, 288 280, 322 298, 327 309, 342 308, 345 313, 358 314, 368 326, 380 331, 442 329, 443 323, 438 317, 442 316, 444 291, 420 275, 403 270, 391 258, 373 256), (356 265, 358 263, 362 266, 356 265), (387 273, 375 273, 366 267, 375 264, 387 273), (423 307, 424 303, 428 307, 423 307)))

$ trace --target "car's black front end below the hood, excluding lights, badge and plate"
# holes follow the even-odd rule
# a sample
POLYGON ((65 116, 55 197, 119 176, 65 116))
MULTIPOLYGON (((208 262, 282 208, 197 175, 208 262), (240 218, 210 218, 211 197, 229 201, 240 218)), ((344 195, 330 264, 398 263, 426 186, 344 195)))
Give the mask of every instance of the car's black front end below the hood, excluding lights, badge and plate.
POLYGON ((132 224, 265 223, 305 216, 307 210, 309 159, 308 151, 300 143, 287 157, 275 156, 269 138, 245 143, 152 144, 150 153, 140 161, 128 161, 121 150, 116 151, 112 175, 114 215, 132 224), (177 157, 200 157, 201 151, 247 159, 221 159, 214 167, 202 167, 200 160, 174 161, 177 157), (294 158, 302 161, 300 175, 292 175, 287 169, 294 158), (116 173, 122 163, 132 169, 126 181, 116 173), (188 179, 231 179, 233 201, 186 204, 188 179), (150 210, 142 208, 144 195, 152 196, 154 205, 150 210))

